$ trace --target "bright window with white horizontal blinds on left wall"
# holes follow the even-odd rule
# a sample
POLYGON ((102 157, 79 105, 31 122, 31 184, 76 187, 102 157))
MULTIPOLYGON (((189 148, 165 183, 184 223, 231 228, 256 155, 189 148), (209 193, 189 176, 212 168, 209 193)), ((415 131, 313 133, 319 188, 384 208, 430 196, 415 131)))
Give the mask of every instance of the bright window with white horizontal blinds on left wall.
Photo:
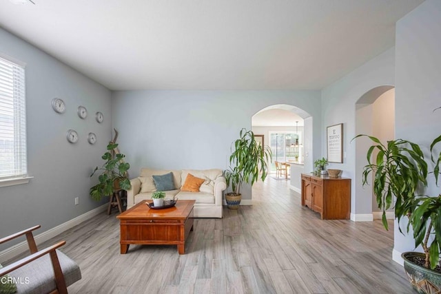
POLYGON ((27 172, 25 69, 0 58, 0 180, 27 172))

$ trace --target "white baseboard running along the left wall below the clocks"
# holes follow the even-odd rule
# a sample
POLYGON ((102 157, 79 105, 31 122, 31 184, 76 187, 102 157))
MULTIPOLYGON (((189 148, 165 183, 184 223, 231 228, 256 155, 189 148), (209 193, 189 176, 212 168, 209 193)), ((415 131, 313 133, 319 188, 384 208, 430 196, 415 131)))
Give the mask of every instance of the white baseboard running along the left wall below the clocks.
MULTIPOLYGON (((84 222, 85 220, 93 218, 99 213, 102 213, 103 211, 105 211, 105 209, 107 209, 107 206, 108 204, 103 204, 101 205, 101 207, 96 207, 96 209, 92 209, 91 211, 83 213, 81 216, 77 216, 72 220, 68 220, 67 222, 60 224, 57 227, 49 229, 48 231, 45 231, 38 235, 34 235, 34 239, 35 242, 37 243, 37 246, 39 243, 48 241, 54 238, 55 236, 63 233, 64 231, 75 227, 77 224, 80 224, 81 222, 84 222)), ((28 250, 29 250, 29 246, 28 246, 28 242, 26 241, 20 242, 19 244, 15 244, 14 246, 0 252, 0 262, 5 262, 6 260, 10 260, 11 258, 14 258, 15 256, 28 250)))

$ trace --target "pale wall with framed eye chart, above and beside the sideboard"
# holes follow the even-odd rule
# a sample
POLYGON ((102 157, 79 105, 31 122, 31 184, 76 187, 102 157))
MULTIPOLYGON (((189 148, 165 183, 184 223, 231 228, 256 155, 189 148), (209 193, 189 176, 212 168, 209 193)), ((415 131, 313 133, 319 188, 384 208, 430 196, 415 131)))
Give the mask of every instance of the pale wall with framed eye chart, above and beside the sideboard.
MULTIPOLYGON (((366 197, 356 193, 356 187, 362 186, 361 174, 356 172, 356 143, 351 143, 357 135, 356 103, 373 88, 394 85, 394 78, 395 55, 394 48, 391 48, 322 90, 322 132, 329 125, 343 123, 343 151, 346 156, 343 163, 331 163, 328 168, 342 169, 343 176, 352 179, 352 220, 372 218, 371 194, 366 197)), ((322 154, 326 154, 325 133, 322 133, 322 154)), ((362 158, 366 158, 364 154, 362 158)))

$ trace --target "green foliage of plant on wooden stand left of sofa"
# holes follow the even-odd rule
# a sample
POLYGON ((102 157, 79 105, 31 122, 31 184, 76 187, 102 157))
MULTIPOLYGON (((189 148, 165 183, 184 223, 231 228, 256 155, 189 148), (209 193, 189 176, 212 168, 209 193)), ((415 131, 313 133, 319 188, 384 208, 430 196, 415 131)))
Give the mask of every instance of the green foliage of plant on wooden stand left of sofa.
POLYGON ((105 160, 103 167, 95 167, 90 175, 92 177, 97 172, 101 172, 98 177, 99 183, 91 187, 89 191, 93 200, 99 201, 103 196, 112 195, 115 190, 127 190, 132 187, 129 178, 127 178, 130 164, 124 161, 124 154, 115 154, 116 147, 118 147, 116 143, 107 145, 107 151, 101 156, 105 160))

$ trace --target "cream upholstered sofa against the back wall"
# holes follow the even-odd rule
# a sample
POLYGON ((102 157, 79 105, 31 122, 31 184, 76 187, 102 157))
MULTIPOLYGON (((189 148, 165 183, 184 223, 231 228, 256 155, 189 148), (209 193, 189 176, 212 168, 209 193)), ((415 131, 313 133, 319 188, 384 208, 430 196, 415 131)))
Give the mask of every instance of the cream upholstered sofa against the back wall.
POLYGON ((127 209, 143 200, 152 199, 156 191, 152 176, 161 176, 172 172, 176 190, 165 191, 165 198, 178 198, 178 200, 196 200, 194 204, 195 218, 222 218, 222 191, 227 188, 222 169, 183 169, 183 170, 156 170, 141 169, 138 178, 130 180, 132 188, 127 190, 127 209), (188 174, 203 178, 205 182, 198 192, 181 191, 188 174))

